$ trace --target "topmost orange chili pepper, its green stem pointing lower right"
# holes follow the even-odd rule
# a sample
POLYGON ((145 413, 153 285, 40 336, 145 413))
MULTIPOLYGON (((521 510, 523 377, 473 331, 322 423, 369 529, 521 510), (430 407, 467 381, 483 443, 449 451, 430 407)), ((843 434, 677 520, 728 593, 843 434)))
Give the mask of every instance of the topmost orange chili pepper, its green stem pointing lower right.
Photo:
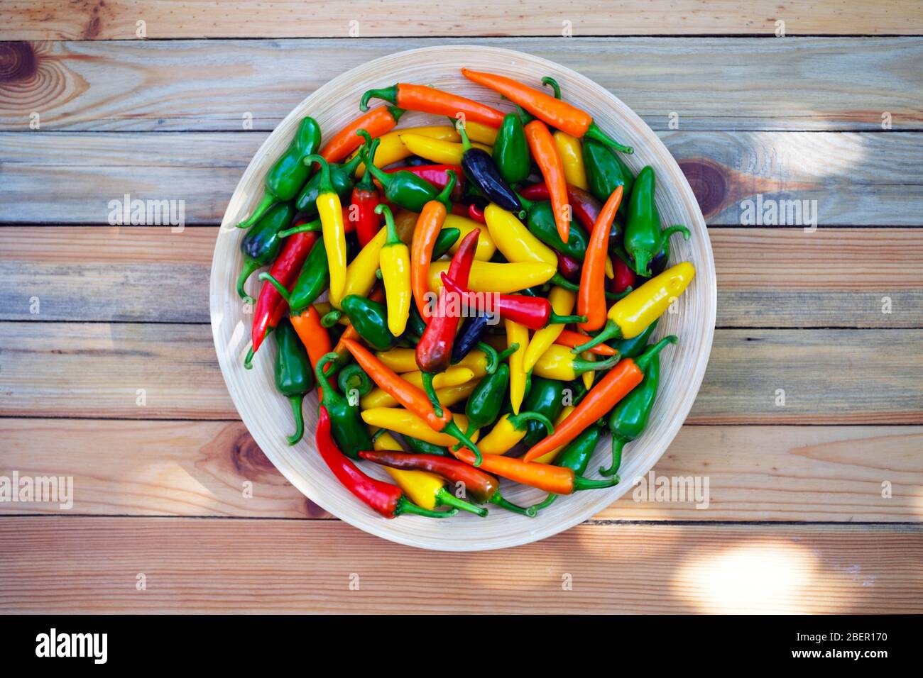
MULTIPOLYGON (((497 76, 493 73, 481 73, 462 68, 462 76, 467 77, 478 85, 493 89, 505 96, 509 101, 518 103, 536 118, 551 125, 562 132, 567 132, 571 137, 588 137, 604 143, 611 149, 622 153, 634 152, 631 147, 617 143, 603 132, 594 122, 593 116, 572 106, 566 101, 561 101, 545 94, 540 89, 533 89, 511 77, 497 76)), ((547 78, 545 78, 547 79, 547 78)), ((545 80, 543 80, 545 81, 545 80)), ((567 242, 565 240, 564 242, 567 242)))

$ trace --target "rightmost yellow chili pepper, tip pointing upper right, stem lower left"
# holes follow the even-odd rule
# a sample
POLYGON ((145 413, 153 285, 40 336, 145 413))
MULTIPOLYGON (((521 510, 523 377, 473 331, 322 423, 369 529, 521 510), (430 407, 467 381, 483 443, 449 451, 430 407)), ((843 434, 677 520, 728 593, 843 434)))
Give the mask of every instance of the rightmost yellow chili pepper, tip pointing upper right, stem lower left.
POLYGON ((570 351, 581 353, 608 339, 631 339, 641 334, 664 312, 695 278, 695 267, 684 261, 667 268, 635 291, 612 304, 603 327, 593 339, 570 351))

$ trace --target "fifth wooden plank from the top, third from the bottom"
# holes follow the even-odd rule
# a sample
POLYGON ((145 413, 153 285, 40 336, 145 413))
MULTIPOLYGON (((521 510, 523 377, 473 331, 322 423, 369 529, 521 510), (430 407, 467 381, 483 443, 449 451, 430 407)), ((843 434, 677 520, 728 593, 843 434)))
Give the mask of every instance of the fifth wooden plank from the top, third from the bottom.
MULTIPOLYGON (((0 416, 236 418, 207 325, 2 327, 0 416)), ((920 329, 719 329, 689 422, 923 423, 921 347, 920 329)))

